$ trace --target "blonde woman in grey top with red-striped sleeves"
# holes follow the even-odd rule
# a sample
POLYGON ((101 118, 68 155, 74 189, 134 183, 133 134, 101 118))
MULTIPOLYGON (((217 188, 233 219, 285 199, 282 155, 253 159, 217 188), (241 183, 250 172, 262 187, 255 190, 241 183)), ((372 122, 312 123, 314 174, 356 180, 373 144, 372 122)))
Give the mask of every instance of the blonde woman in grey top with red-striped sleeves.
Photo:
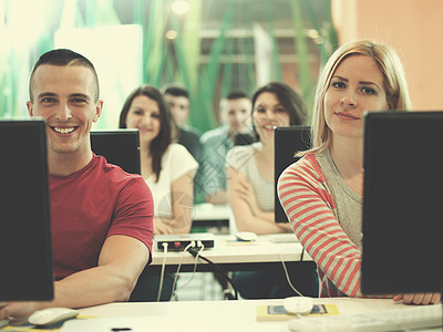
MULTIPOLYGON (((278 195, 295 234, 324 277, 324 297, 362 297, 363 112, 410 107, 403 68, 389 46, 371 41, 346 44, 320 75, 312 148, 282 173, 278 195)), ((439 293, 393 297, 414 304, 440 298, 439 293)))

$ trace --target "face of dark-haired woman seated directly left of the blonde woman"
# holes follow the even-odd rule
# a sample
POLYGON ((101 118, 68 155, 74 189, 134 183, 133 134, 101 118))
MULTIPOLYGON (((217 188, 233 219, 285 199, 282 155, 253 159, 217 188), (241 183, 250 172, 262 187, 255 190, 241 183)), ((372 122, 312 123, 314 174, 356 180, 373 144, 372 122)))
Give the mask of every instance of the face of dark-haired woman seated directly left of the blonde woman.
POLYGON ((274 127, 289 126, 290 117, 275 93, 264 92, 254 105, 254 125, 260 142, 274 142, 274 127))

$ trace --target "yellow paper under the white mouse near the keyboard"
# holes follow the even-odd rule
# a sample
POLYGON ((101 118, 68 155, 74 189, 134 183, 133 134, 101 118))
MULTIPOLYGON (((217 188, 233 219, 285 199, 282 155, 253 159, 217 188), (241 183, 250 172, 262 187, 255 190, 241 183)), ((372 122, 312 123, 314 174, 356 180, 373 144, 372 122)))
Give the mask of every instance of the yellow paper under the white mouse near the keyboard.
MULTIPOLYGON (((257 305, 257 321, 287 321, 296 318, 285 311, 284 305, 257 305)), ((310 315, 331 315, 339 314, 336 304, 315 304, 310 315)))

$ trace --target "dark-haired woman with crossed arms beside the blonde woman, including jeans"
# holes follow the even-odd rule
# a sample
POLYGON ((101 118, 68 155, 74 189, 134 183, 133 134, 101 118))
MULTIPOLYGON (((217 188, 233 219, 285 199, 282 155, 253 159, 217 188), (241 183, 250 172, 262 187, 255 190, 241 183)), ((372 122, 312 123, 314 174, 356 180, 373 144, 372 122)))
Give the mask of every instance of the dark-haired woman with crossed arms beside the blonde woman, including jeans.
MULTIPOLYGON (((301 125, 307 110, 303 101, 285 83, 272 82, 253 96, 253 124, 259 142, 236 146, 226 157, 228 197, 239 231, 277 234, 291 231, 287 224, 274 218, 274 127, 301 125)), ((298 290, 317 292, 313 266, 292 266, 290 276, 298 290)), ((247 299, 286 298, 295 295, 284 270, 235 272, 234 282, 247 299)))

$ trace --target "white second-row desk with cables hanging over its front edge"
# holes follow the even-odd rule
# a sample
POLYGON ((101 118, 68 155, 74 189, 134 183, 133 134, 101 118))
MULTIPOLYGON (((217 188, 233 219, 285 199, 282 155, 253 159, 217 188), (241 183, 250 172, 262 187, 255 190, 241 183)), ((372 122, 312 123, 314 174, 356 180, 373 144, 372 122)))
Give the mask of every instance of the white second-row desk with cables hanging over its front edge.
MULTIPOLYGON (((215 247, 205 249, 202 256, 208 258, 225 270, 255 270, 268 269, 271 266, 281 266, 285 262, 298 262, 301 259, 302 247, 300 242, 275 243, 271 242, 272 235, 258 236, 254 242, 238 242, 234 236, 216 235, 215 247)), ((154 248, 157 248, 154 242, 154 248)), ((162 250, 154 249, 153 262, 148 269, 159 269, 165 255, 162 250)), ((168 271, 175 271, 177 264, 182 262, 181 271, 193 270, 195 258, 189 253, 167 252, 166 267, 168 271), (172 269, 173 268, 173 269, 172 269)), ((312 261, 311 257, 305 252, 303 261, 312 261)), ((199 260, 198 271, 210 270, 210 266, 199 260)))

